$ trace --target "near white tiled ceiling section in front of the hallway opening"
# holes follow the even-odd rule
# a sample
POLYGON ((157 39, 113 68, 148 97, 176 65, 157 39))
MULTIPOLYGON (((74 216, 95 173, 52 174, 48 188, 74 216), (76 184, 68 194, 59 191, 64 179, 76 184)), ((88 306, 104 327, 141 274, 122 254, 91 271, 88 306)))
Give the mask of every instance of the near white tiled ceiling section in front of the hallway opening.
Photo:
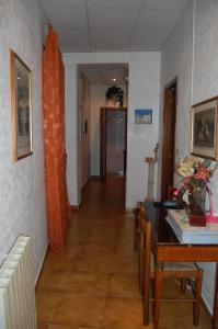
POLYGON ((71 52, 160 50, 187 0, 42 0, 71 52))

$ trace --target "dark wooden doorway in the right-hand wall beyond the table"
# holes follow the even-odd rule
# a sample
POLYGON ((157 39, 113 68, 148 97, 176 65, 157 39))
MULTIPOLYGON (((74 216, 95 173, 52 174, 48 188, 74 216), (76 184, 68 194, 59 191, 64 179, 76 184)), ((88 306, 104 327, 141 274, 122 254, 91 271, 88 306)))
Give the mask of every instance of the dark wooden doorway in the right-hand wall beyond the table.
POLYGON ((164 89, 161 201, 169 198, 174 182, 176 90, 175 78, 164 89))

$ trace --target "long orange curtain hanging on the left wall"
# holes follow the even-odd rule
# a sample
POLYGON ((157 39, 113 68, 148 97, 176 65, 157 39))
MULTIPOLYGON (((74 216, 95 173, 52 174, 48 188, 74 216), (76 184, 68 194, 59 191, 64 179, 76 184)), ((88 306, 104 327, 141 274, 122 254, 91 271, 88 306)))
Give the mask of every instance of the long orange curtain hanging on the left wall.
POLYGON ((43 54, 44 145, 49 243, 55 252, 64 250, 69 202, 66 182, 65 67, 58 36, 49 26, 43 54))

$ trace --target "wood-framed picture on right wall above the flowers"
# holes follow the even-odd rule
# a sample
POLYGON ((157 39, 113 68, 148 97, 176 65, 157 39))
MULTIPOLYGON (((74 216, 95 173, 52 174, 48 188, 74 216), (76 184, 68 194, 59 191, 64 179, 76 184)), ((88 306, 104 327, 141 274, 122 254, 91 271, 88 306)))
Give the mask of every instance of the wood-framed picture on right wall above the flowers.
POLYGON ((213 160, 218 160, 217 105, 214 98, 192 106, 191 152, 213 160))

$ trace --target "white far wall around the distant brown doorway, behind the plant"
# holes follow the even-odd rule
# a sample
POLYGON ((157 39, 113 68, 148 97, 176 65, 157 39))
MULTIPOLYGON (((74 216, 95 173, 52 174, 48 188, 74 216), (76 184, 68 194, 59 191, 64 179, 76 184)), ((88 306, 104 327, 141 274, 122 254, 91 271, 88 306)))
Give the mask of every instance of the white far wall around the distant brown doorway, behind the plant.
MULTIPOLYGON (((127 106, 126 86, 124 90, 124 106, 127 106)), ((110 106, 105 100, 108 86, 91 86, 91 175, 100 175, 100 107, 110 106)))

